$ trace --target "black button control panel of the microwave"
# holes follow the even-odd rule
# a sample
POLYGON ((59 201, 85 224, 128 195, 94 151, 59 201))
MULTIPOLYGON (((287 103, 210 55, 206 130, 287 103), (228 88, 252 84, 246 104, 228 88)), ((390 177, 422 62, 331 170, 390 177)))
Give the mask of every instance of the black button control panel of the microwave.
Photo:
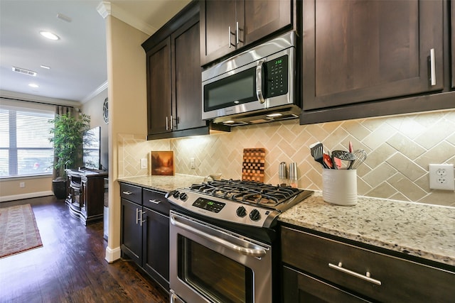
POLYGON ((287 94, 288 91, 288 55, 267 61, 267 82, 265 84, 265 97, 277 97, 287 94))

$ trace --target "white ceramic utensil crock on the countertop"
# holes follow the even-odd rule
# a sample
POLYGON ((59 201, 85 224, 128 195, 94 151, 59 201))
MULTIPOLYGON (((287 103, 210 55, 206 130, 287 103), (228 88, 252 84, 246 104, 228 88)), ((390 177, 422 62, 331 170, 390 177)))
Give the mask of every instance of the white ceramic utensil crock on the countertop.
POLYGON ((357 170, 322 170, 322 199, 337 205, 357 204, 357 170))

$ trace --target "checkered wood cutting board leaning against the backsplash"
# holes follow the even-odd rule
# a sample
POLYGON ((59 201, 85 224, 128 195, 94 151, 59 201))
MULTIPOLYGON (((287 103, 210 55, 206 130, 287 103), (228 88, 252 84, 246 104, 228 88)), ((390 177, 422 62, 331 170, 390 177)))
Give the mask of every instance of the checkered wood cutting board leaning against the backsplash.
POLYGON ((264 182, 265 148, 244 148, 242 180, 264 182))

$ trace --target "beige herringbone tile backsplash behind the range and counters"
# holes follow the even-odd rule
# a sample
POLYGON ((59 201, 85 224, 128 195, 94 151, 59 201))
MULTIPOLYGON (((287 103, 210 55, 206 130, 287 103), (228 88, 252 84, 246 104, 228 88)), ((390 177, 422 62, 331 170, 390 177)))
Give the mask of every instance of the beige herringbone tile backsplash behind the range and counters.
POLYGON ((173 150, 178 174, 240 179, 244 148, 265 148, 264 182, 278 184, 279 162, 296 162, 299 187, 321 190, 321 165, 309 145, 325 150, 364 149, 368 158, 358 167, 358 194, 455 206, 455 192, 429 189, 429 163, 455 164, 455 111, 388 116, 300 126, 299 120, 232 128, 210 136, 145 141, 145 136, 119 135, 119 175, 146 175, 139 160, 151 150, 173 150), (196 169, 190 159, 195 158, 196 169))

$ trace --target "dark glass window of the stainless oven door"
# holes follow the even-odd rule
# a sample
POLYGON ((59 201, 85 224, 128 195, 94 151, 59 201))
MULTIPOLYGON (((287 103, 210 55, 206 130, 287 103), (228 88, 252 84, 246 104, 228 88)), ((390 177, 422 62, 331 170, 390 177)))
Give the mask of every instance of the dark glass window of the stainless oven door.
POLYGON ((253 302, 253 273, 205 246, 178 235, 178 277, 214 302, 253 302))

